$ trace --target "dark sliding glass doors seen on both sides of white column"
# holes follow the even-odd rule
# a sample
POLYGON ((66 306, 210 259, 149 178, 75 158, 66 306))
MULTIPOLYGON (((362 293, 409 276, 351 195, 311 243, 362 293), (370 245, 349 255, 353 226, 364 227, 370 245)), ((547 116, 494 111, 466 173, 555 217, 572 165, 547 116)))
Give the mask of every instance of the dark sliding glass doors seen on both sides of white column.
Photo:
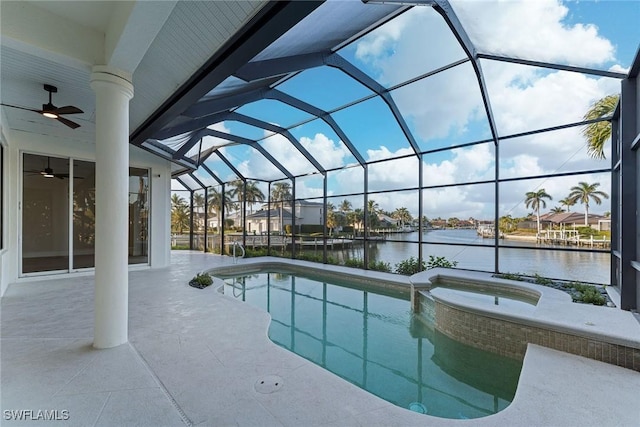
MULTIPOLYGON (((23 155, 23 274, 95 267, 95 189, 94 162, 23 155)), ((149 171, 129 168, 130 264, 149 262, 148 232, 149 171)))

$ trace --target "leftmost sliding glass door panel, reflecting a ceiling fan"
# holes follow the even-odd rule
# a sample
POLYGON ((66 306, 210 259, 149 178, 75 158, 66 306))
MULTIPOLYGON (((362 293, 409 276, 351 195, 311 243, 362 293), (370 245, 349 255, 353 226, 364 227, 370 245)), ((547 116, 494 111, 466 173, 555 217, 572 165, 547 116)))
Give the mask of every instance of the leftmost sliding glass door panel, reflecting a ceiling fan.
POLYGON ((69 160, 24 154, 22 272, 69 269, 69 160))

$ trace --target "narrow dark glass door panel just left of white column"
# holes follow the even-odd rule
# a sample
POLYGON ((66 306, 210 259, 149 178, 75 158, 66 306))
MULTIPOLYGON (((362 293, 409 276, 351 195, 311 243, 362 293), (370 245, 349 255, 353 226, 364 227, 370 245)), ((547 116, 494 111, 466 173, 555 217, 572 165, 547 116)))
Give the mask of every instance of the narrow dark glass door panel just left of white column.
POLYGON ((95 267, 96 165, 73 162, 73 269, 95 267))

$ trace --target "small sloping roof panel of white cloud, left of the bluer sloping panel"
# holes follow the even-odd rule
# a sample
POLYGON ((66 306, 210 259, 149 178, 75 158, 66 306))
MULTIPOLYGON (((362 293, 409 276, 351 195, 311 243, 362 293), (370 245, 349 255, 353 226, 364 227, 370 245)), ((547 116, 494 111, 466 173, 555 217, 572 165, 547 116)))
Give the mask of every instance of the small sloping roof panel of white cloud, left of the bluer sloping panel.
POLYGON ((291 129, 291 134, 325 169, 357 162, 333 129, 321 119, 297 126, 291 129))

